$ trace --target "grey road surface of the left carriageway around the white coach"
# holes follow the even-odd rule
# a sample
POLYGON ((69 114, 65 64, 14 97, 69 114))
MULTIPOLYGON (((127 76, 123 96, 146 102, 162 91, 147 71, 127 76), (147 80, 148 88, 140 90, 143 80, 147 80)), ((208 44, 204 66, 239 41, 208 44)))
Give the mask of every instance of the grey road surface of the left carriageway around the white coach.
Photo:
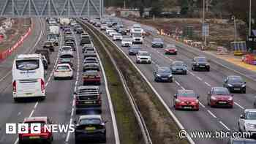
MULTIPOLYGON (((46 40, 48 34, 48 24, 43 19, 32 18, 35 24, 35 29, 32 31, 23 45, 18 48, 18 53, 33 53, 35 48, 42 47, 43 42, 46 40)), ((75 35, 76 43, 80 39, 79 35, 75 35)), ((75 66, 75 75, 73 80, 53 80, 53 69, 59 57, 59 48, 64 44, 63 34, 59 39, 60 45, 55 48, 55 52, 50 55, 52 63, 47 71, 46 78, 46 91, 47 97, 44 101, 37 99, 30 99, 26 102, 15 103, 12 99, 12 61, 7 59, 0 65, 0 143, 1 144, 17 144, 18 134, 5 134, 5 124, 22 122, 25 117, 29 116, 48 116, 55 124, 69 124, 75 120, 76 115, 74 112, 74 97, 73 93, 77 86, 81 83, 81 64, 82 64, 82 50, 77 46, 77 53, 73 59, 75 66)), ((101 70, 102 71, 102 70, 101 70)), ((105 75, 102 75, 102 117, 108 121, 107 128, 107 143, 116 143, 118 132, 113 130, 112 115, 110 111, 110 99, 108 92, 105 89, 105 82, 103 80, 105 75)), ((114 117, 113 117, 114 118, 114 117)), ((60 143, 75 143, 74 134, 59 133, 54 134, 53 144, 60 143)))

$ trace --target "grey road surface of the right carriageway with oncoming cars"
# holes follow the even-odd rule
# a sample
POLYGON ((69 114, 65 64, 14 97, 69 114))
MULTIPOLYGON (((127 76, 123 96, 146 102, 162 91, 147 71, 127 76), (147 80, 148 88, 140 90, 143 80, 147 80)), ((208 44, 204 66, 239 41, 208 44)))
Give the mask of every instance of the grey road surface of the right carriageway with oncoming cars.
MULTIPOLYGON (((124 26, 129 27, 134 24, 129 20, 122 20, 124 26)), ((148 26, 143 26, 147 31, 148 26)), ((150 31, 152 32, 152 31, 150 31)), ((152 39, 156 37, 145 37, 143 45, 140 45, 142 50, 151 53, 152 64, 136 64, 135 56, 129 56, 134 64, 143 72, 143 75, 150 81, 151 85, 157 90, 157 93, 162 96, 165 103, 170 110, 176 115, 178 121, 187 129, 187 131, 201 131, 201 132, 238 132, 238 118, 242 111, 247 108, 253 108, 253 101, 255 100, 256 89, 255 83, 248 83, 246 94, 234 94, 234 107, 230 108, 212 108, 207 105, 206 96, 211 87, 222 86, 222 83, 227 75, 238 75, 230 70, 220 67, 214 62, 210 62, 211 72, 194 72, 191 70, 192 58, 195 56, 204 56, 203 53, 195 55, 184 48, 177 48, 177 56, 165 56, 164 49, 151 48, 152 39), (174 75, 173 83, 156 83, 154 82, 153 71, 156 67, 165 66, 170 67, 173 61, 184 61, 188 66, 187 75, 174 75), (183 111, 174 110, 173 95, 177 89, 192 89, 200 96, 200 110, 199 111, 183 111)), ((172 43, 173 40, 164 38, 165 45, 172 43)), ((122 48, 121 42, 116 42, 119 48, 128 56, 128 48, 122 48)), ((227 143, 227 139, 194 139, 198 144, 214 144, 227 143)))

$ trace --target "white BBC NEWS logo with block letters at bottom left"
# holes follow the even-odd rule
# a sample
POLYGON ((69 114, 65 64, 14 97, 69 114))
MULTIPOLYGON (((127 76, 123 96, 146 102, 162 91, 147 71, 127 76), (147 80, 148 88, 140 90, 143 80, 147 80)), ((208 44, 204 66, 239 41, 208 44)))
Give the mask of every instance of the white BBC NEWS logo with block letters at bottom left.
POLYGON ((41 134, 45 132, 67 133, 75 132, 73 124, 5 124, 6 134, 41 134))

